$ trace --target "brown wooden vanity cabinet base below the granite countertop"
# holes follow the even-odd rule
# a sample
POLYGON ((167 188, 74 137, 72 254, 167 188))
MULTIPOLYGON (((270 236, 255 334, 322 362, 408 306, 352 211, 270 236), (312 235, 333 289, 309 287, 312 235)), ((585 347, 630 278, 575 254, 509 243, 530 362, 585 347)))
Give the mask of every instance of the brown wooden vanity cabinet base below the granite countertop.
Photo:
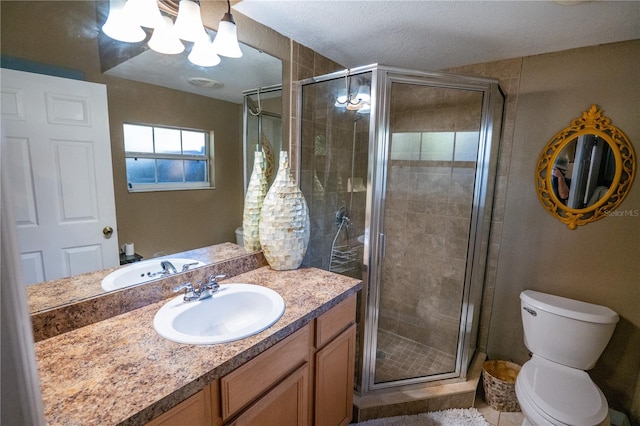
POLYGON ((351 420, 355 295, 149 424, 344 425, 351 420), (185 419, 189 419, 185 421, 185 419))

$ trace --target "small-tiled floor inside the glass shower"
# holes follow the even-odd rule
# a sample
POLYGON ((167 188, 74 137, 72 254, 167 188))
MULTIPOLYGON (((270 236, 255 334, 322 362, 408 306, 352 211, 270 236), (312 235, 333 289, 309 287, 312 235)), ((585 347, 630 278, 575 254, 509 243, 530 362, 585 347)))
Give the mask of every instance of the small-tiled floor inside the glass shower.
POLYGON ((455 355, 378 330, 376 383, 447 373, 454 371, 455 366, 455 355))

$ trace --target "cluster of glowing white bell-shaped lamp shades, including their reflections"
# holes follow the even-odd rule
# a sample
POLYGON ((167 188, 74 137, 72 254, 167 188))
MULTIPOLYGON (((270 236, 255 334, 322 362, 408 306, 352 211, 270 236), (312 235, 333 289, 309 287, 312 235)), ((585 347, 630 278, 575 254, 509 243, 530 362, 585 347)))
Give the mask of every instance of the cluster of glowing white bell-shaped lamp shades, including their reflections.
POLYGON ((109 7, 109 16, 102 31, 114 40, 140 42, 147 36, 142 29, 145 27, 153 29, 148 45, 156 52, 174 55, 185 50, 181 40, 193 43, 188 59, 198 66, 219 64, 218 55, 229 58, 242 56, 229 0, 213 42, 202 24, 198 0, 109 0, 109 7), (159 2, 163 7, 158 6, 159 2), (163 15, 161 9, 174 16, 177 11, 175 23, 163 15))

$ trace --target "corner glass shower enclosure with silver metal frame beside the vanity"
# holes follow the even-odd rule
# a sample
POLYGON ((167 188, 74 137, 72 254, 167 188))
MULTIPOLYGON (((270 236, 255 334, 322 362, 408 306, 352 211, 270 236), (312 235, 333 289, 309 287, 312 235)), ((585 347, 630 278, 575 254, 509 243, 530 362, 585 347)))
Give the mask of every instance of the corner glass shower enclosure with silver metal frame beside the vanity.
POLYGON ((503 106, 495 80, 379 65, 299 83, 303 264, 364 282, 360 393, 466 376, 503 106))

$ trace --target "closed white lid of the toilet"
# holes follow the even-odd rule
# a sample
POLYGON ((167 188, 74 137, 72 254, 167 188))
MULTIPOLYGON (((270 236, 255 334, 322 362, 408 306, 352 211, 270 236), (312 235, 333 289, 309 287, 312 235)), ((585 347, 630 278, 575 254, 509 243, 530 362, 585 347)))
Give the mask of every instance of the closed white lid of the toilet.
POLYGON ((607 400, 585 371, 534 357, 517 380, 531 402, 561 424, 597 425, 607 416, 607 400))

